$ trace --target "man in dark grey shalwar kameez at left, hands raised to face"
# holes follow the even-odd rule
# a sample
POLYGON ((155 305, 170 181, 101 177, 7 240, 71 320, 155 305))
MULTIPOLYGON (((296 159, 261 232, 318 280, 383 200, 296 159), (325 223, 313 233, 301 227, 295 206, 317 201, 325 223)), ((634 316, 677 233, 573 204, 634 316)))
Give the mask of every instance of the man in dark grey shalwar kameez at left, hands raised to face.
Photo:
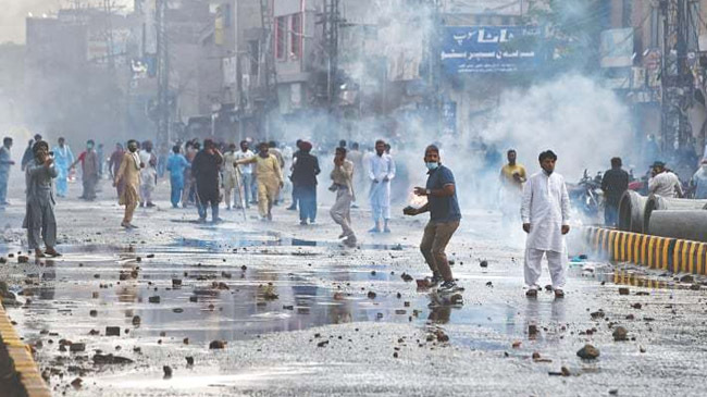
POLYGON ((57 219, 52 179, 58 175, 54 159, 49 156, 49 144, 44 140, 37 140, 32 151, 35 158, 25 169, 27 212, 22 225, 27 229, 27 243, 29 250, 35 250, 35 257, 59 257, 60 253, 54 249, 57 219), (40 238, 47 247, 45 252, 39 248, 40 238))

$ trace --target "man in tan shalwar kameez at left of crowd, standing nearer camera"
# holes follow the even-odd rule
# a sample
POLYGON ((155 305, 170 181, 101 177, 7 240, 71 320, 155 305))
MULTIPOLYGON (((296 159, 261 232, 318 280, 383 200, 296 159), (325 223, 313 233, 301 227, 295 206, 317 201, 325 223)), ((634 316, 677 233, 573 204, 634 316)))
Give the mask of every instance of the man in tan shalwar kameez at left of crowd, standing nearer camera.
POLYGON ((121 226, 125 228, 137 228, 133 224, 133 214, 140 201, 140 169, 144 166, 145 164, 140 162, 140 157, 137 153, 137 140, 128 140, 127 151, 123 154, 121 166, 113 178, 114 187, 117 187, 121 183, 123 184, 123 193, 117 202, 125 206, 125 215, 123 222, 121 222, 121 226))

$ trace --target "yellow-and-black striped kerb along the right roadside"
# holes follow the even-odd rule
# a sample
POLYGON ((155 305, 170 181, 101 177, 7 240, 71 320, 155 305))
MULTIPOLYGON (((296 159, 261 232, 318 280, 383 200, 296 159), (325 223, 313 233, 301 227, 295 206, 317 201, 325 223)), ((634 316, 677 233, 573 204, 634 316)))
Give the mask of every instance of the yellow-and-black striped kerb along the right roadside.
POLYGON ((613 262, 707 275, 706 243, 604 227, 585 227, 583 239, 588 249, 613 262))

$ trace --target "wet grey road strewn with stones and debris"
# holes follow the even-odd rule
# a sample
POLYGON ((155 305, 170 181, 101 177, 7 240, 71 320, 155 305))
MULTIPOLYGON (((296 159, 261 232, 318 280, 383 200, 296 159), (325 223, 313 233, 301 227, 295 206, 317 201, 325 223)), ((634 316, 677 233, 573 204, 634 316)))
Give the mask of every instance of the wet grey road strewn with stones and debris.
MULTIPOLYGON (((215 226, 194 224, 191 211, 140 210, 144 227, 126 233, 114 204, 82 209, 60 213, 64 257, 2 268, 22 293, 9 313, 58 394, 704 395, 704 290, 582 261, 566 299, 528 300, 522 251, 494 232, 494 213, 469 213, 452 240, 466 291, 450 305, 402 278, 426 275, 421 221, 396 219, 396 233, 351 250, 330 222, 298 227, 284 210, 272 225, 227 213, 215 226), (628 340, 613 340, 618 326, 628 340), (598 359, 576 357, 586 343, 598 359), (109 353, 131 362, 100 360, 109 353), (569 376, 555 375, 562 367, 569 376)), ((355 218, 363 229, 365 213, 355 218)), ((7 258, 21 232, 4 236, 7 258)))

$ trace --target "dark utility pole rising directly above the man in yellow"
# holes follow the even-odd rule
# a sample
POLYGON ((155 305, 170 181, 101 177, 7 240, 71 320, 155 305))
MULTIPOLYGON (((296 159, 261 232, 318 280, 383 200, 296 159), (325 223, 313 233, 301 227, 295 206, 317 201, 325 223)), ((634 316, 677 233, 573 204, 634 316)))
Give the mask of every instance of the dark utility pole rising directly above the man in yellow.
POLYGON ((277 70, 275 69, 275 54, 273 48, 273 29, 275 25, 274 10, 271 9, 272 0, 260 0, 260 22, 262 26, 262 44, 260 53, 262 54, 262 64, 264 66, 264 76, 261 84, 264 88, 264 104, 260 114, 260 125, 265 135, 265 140, 270 139, 270 112, 277 108, 277 70))

